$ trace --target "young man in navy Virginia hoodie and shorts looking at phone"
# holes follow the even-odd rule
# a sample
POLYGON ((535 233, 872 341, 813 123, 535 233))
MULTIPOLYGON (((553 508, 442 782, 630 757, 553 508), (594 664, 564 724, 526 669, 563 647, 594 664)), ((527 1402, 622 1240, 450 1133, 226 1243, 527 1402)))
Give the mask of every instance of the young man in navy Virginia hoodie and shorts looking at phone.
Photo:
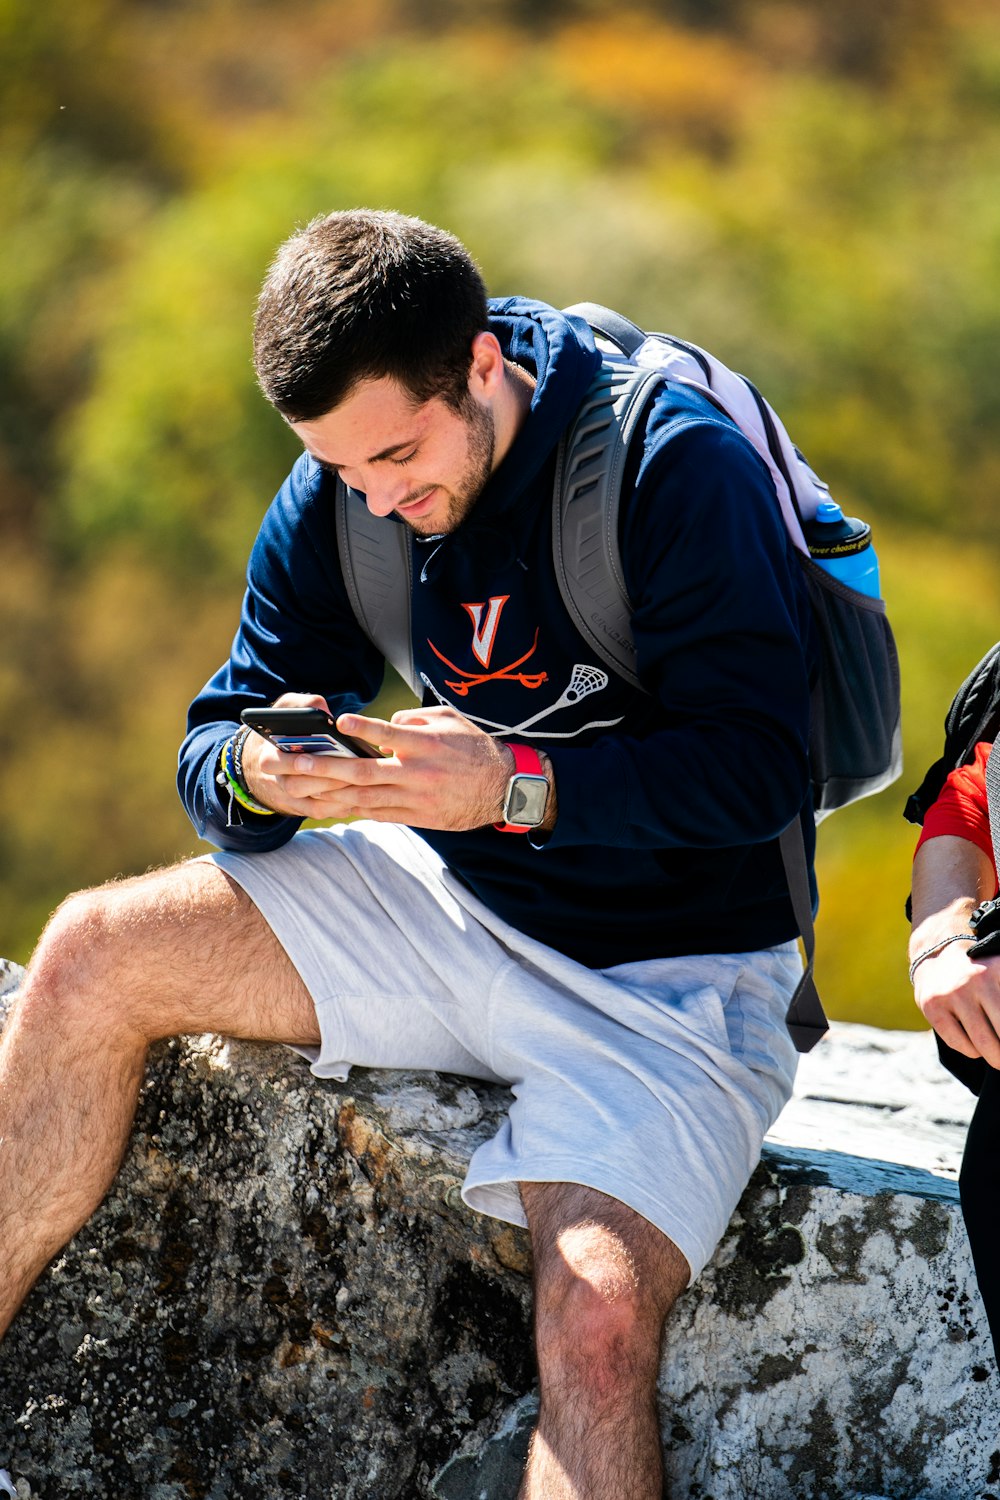
POLYGON ((487 308, 439 230, 334 213, 279 252, 255 358, 304 454, 181 747, 184 804, 222 852, 75 897, 42 940, 3 1048, 0 1312, 106 1191, 154 1038, 505 1083, 463 1191, 532 1238, 522 1496, 652 1500, 663 1323, 795 1072, 777 840, 802 816, 813 849, 811 646, 768 471, 709 404, 658 388, 621 516, 639 692, 589 662, 555 580, 556 447, 600 368, 580 320, 487 308), (408 528, 426 692, 390 723, 358 711, 382 660, 340 572, 339 482, 408 528), (241 708, 274 702, 328 706, 384 754, 240 734, 241 708))

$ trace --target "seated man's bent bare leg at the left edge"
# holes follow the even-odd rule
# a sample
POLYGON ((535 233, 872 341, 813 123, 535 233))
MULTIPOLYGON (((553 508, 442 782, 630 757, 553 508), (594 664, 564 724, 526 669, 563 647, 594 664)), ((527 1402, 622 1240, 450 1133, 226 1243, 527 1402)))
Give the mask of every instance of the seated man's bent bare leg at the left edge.
POLYGON ((192 862, 55 912, 0 1040, 0 1335, 100 1203, 148 1042, 319 1041, 312 1000, 249 897, 192 862))

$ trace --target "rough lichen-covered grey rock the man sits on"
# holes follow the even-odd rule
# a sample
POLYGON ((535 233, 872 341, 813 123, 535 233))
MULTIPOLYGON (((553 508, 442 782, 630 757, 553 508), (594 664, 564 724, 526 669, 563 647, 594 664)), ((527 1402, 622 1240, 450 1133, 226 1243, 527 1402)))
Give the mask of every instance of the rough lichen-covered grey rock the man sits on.
MULTIPOLYGON (((925 1035, 835 1028, 805 1060, 669 1324, 672 1496, 1000 1500, 969 1104, 925 1035)), ((502 1108, 460 1078, 159 1047, 115 1188, 0 1347, 19 1500, 513 1500, 529 1245, 457 1191, 502 1108)))

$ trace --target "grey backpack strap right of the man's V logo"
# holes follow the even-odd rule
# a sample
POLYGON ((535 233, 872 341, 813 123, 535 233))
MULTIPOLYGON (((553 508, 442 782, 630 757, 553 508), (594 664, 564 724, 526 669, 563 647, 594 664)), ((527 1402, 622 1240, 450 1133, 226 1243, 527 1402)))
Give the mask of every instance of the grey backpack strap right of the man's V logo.
POLYGON ((633 687, 642 684, 618 513, 628 444, 661 384, 660 370, 604 360, 559 442, 552 495, 552 556, 562 603, 601 662, 633 687))

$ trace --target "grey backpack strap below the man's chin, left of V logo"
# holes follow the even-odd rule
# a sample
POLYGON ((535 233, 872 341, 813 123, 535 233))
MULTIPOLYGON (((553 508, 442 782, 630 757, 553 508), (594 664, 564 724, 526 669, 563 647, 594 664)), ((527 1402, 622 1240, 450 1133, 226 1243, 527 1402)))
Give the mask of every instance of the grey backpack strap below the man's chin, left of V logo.
POLYGON ((409 532, 385 516, 373 516, 340 478, 334 507, 340 570, 357 622, 420 698, 423 686, 414 668, 409 618, 409 532))

